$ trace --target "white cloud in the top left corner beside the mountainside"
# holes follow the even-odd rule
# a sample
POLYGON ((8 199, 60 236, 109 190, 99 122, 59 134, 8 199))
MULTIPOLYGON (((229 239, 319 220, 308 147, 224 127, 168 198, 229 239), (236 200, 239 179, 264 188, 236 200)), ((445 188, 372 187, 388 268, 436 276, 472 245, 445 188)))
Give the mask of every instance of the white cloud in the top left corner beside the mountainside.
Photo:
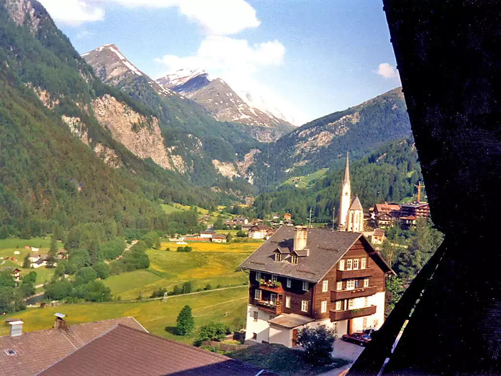
POLYGON ((97 3, 84 0, 40 0, 56 21, 70 26, 104 20, 104 9, 97 3))

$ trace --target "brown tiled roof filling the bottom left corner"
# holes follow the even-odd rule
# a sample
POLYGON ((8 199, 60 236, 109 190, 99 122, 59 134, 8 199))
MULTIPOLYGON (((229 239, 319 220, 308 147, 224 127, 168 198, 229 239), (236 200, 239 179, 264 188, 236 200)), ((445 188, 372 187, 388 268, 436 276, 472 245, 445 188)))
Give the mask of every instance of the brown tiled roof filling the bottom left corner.
POLYGON ((133 317, 122 317, 70 325, 66 330, 51 328, 25 332, 17 337, 0 337, 0 374, 34 375, 117 324, 145 331, 133 317), (8 349, 16 354, 8 355, 8 349))

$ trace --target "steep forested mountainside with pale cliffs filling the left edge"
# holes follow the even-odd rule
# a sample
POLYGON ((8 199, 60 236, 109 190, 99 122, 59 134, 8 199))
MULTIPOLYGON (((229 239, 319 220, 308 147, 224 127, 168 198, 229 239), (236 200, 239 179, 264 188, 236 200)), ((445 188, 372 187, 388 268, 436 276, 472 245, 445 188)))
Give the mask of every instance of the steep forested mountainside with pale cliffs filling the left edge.
POLYGON ((217 204, 159 167, 162 156, 117 142, 96 118, 106 101, 135 132, 157 132, 152 112, 103 85, 38 2, 0 0, 0 235, 104 221, 161 229, 159 200, 217 204))

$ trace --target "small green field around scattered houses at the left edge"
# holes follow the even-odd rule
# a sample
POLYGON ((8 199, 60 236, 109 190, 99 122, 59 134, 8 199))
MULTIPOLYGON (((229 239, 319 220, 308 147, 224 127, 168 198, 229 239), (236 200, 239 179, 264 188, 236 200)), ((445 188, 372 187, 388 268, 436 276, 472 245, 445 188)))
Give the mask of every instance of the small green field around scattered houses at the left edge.
MULTIPOLYGON (((12 267, 19 268, 22 270, 21 276, 28 274, 31 270, 37 272, 37 282, 36 284, 42 284, 49 281, 54 274, 54 269, 47 269, 45 267, 40 267, 37 269, 25 269, 21 268, 23 265, 23 260, 26 254, 30 253, 33 255, 47 255, 49 248, 51 246, 51 239, 45 238, 33 238, 33 239, 2 239, 0 240, 0 257, 8 260, 0 260, 0 267, 12 267), (25 249, 25 246, 40 248, 38 252, 32 252, 31 250, 25 249), (19 252, 16 255, 15 252, 19 252), (16 261, 11 260, 11 258, 16 258, 16 261)), ((63 248, 63 243, 58 241, 58 249, 63 248)))

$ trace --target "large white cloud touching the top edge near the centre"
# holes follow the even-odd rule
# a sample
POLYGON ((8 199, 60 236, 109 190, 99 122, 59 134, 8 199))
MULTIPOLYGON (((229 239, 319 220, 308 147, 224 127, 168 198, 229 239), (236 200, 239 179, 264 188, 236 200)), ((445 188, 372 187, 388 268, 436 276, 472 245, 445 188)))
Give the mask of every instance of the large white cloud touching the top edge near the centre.
POLYGON ((177 7, 207 35, 230 35, 258 27, 256 10, 244 0, 107 0, 129 8, 177 7))

